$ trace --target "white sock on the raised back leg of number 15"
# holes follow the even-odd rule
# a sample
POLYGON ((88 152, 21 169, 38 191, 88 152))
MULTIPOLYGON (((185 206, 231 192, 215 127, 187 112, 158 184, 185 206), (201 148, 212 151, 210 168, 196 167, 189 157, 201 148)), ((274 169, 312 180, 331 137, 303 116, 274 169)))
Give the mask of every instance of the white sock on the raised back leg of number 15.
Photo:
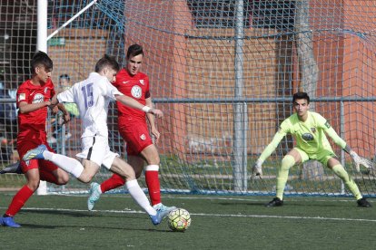
POLYGON ((65 172, 79 178, 84 171, 84 166, 76 159, 64 155, 54 154, 48 150, 43 152, 43 157, 54 162, 57 167, 62 168, 65 172))

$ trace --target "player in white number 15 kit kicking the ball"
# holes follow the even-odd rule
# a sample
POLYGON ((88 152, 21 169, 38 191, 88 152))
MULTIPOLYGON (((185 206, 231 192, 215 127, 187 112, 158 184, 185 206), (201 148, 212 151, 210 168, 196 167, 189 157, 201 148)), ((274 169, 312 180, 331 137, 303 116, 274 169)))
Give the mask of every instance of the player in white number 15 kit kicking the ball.
POLYGON ((46 159, 54 162, 59 168, 74 175, 78 180, 88 183, 94 178, 101 165, 110 171, 126 178, 125 186, 130 195, 140 207, 151 217, 153 225, 161 223, 167 214, 156 211, 149 203, 135 178, 132 168, 119 155, 112 152, 108 145, 107 113, 110 101, 121 101, 134 109, 152 113, 156 117, 163 116, 163 112, 156 110, 125 96, 118 91, 111 82, 114 81, 116 72, 120 69, 114 57, 104 55, 95 65, 95 72, 83 82, 75 83, 70 89, 63 91, 52 99, 52 105, 59 102, 74 102, 77 104, 82 119, 83 135, 82 152, 76 156, 80 161, 55 154, 40 145, 29 150, 24 160, 46 159))

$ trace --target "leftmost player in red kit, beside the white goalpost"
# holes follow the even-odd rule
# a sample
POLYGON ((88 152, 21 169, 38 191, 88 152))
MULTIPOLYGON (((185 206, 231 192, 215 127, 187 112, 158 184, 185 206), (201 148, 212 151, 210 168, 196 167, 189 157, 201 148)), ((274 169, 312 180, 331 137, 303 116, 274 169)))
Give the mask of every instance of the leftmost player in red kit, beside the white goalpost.
MULTIPOLYGON (((54 96, 54 83, 51 81, 53 61, 46 53, 35 53, 31 62, 31 70, 32 78, 19 86, 16 96, 19 109, 17 150, 20 159, 29 149, 34 149, 41 144, 44 144, 49 151, 54 151, 47 143, 45 131, 47 107, 51 105, 50 100, 54 96)), ((64 112, 64 121, 68 121, 69 113, 65 111, 64 105, 58 105, 58 108, 64 112)), ((21 168, 27 183, 15 194, 4 216, 0 217, 0 225, 20 227, 15 223, 13 217, 25 205, 27 199, 34 194, 40 180, 64 185, 69 179, 64 170, 44 159, 21 160, 21 168)))

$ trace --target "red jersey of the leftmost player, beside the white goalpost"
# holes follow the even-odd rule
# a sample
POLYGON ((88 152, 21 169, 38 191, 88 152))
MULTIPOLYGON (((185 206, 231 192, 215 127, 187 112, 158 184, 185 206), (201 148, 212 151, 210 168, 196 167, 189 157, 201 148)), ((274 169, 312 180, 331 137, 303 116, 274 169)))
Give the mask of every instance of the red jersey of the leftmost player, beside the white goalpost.
MULTIPOLYGON (((51 80, 45 82, 43 86, 35 86, 31 80, 22 83, 17 90, 17 107, 20 102, 28 104, 49 101, 54 96, 54 83, 51 80)), ((47 119, 47 107, 21 113, 18 111, 18 136, 17 144, 25 140, 34 140, 38 144, 45 143, 45 120, 47 119)))

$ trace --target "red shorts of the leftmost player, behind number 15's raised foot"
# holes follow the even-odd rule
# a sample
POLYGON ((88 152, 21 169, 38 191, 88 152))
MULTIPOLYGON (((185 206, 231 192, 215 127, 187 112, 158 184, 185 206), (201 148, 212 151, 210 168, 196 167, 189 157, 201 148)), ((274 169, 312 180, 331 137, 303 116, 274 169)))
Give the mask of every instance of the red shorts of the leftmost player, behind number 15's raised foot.
MULTIPOLYGON (((28 150, 35 149, 39 145, 40 144, 38 144, 38 143, 36 143, 34 141, 31 141, 31 140, 25 141, 21 145, 18 144, 17 145, 17 151, 18 151, 18 154, 20 155, 20 159, 22 159, 24 157, 25 153, 28 150)), ((51 149, 50 146, 48 146, 47 143, 45 143, 45 146, 47 147, 48 151, 54 152, 54 149, 51 149)), ((29 169, 33 169, 33 168, 39 168, 39 169, 43 168, 45 171, 52 172, 52 171, 56 170, 58 167, 56 165, 54 165, 54 163, 52 163, 49 160, 45 160, 45 159, 30 159, 28 161, 21 160, 21 168, 22 168, 22 171, 25 173, 29 169)))

